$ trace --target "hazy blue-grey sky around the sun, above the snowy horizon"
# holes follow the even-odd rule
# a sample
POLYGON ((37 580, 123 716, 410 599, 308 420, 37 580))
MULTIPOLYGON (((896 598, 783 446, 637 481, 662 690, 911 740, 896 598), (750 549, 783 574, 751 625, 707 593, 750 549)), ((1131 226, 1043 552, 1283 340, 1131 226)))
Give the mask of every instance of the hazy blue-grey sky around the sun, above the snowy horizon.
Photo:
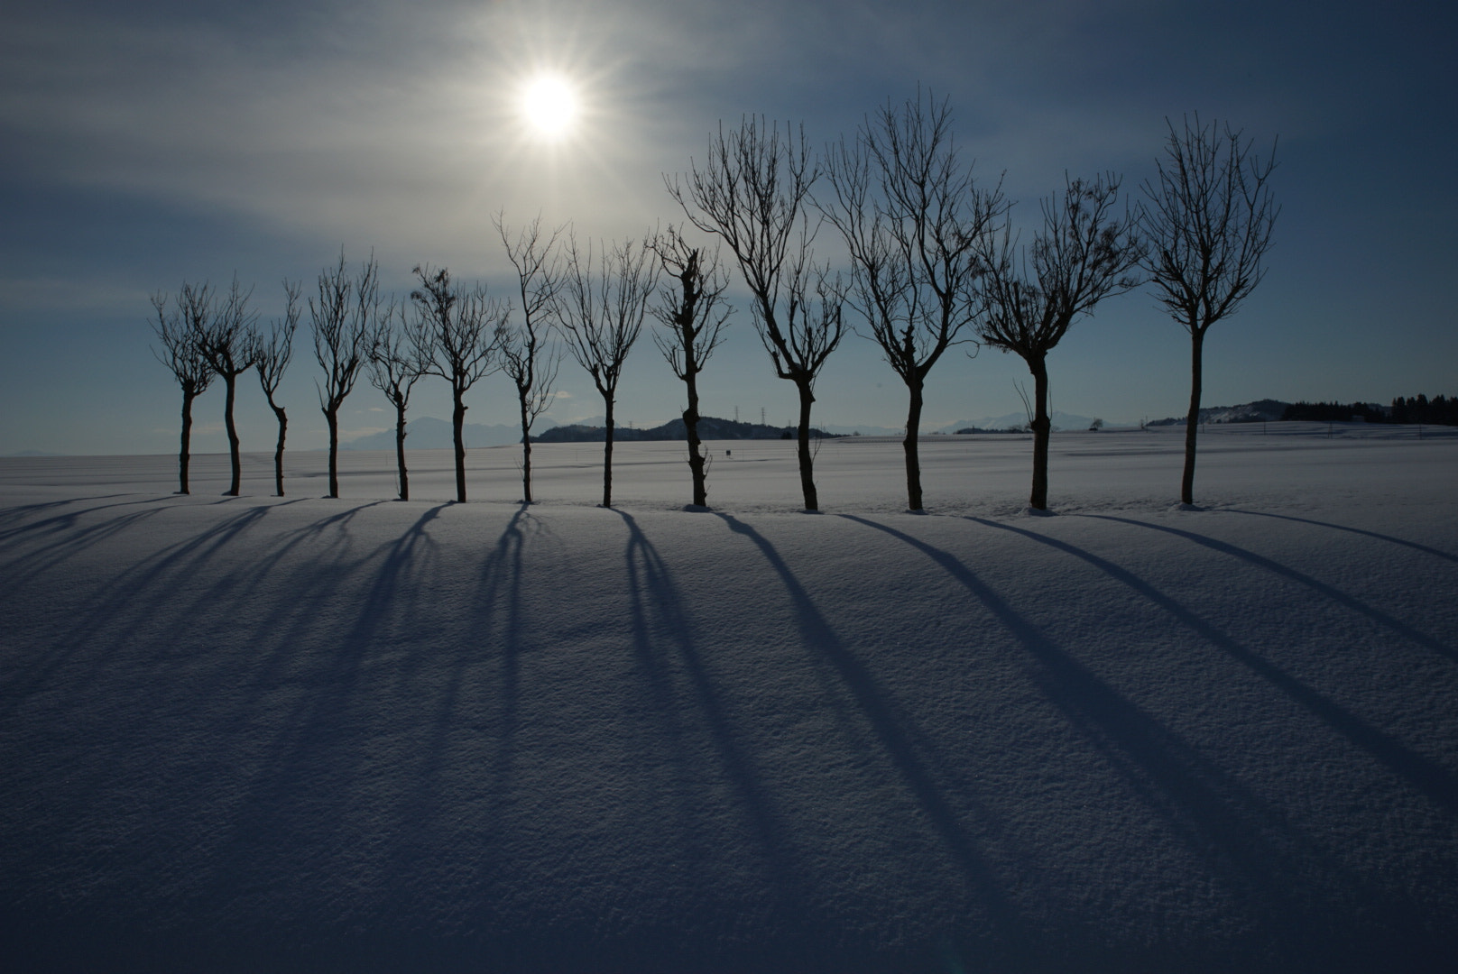
MULTIPOLYGON (((720 121, 803 122, 824 144, 917 85, 951 99, 962 153, 1005 179, 1025 232, 1064 172, 1114 171, 1137 192, 1166 117, 1229 120, 1263 152, 1279 136, 1270 273, 1210 332, 1207 404, 1458 391, 1458 31, 1438 4, 6 0, 0 22, 0 453, 175 449, 152 292, 236 273, 267 321, 281 278, 312 281, 343 246, 373 248, 389 290, 432 262, 504 293, 491 214, 640 236, 682 219, 663 175, 701 157, 720 121), (582 87, 563 143, 532 139, 515 111, 541 69, 582 87)), ((787 421, 793 386, 732 303, 703 410, 787 421)), ((1050 356, 1053 405, 1182 413, 1187 360, 1147 292, 1110 300, 1050 356)), ((300 449, 325 443, 316 373, 300 344, 281 397, 300 449)), ((991 350, 952 356, 924 423, 1016 411, 1025 375, 991 350)), ((560 386, 557 421, 602 413, 576 366, 560 386)), ((268 449, 271 414, 251 375, 241 388, 243 449, 268 449)), ((816 394, 818 421, 904 421, 904 386, 862 338, 816 394)), ((500 376, 468 404, 469 421, 512 421, 500 376)), ((362 383, 346 432, 383 427, 385 405, 362 383)), ((681 408, 644 338, 618 417, 681 408)), ((449 416, 445 383, 411 413, 449 416)), ((198 404, 194 448, 225 448, 219 391, 198 404)))

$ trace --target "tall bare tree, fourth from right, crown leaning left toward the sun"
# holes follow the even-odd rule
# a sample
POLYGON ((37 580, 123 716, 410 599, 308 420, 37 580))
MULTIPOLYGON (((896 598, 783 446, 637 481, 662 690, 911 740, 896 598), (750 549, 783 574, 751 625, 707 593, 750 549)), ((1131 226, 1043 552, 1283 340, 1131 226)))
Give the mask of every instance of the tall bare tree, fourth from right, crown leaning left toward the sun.
POLYGON ((774 373, 799 392, 796 452, 806 510, 819 510, 809 442, 815 378, 844 337, 838 287, 811 258, 815 232, 805 204, 818 175, 803 130, 796 137, 786 125, 781 143, 777 124, 745 118, 738 131, 719 128, 704 165, 690 162, 685 184, 666 181, 690 223, 717 233, 735 255, 774 373))

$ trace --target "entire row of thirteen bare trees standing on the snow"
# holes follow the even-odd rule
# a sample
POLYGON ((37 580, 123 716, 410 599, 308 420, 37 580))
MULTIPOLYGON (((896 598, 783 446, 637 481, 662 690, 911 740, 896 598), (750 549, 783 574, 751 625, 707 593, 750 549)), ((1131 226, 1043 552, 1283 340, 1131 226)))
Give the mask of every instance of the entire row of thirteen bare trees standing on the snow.
MULTIPOLYGON (((1029 506, 1048 500, 1048 353, 1105 297, 1150 283, 1193 343, 1191 398, 1181 500, 1193 503, 1201 354, 1212 324, 1229 316, 1264 276, 1277 214, 1274 157, 1260 159, 1228 125, 1198 117, 1169 124, 1158 178, 1143 200, 1120 200, 1115 174, 1067 178, 1041 201, 1041 226, 1024 241, 1002 181, 981 185, 952 133, 946 101, 917 92, 886 104, 853 137, 818 157, 793 125, 745 118, 720 127, 703 162, 665 178, 688 223, 729 251, 774 373, 799 397, 796 456, 803 504, 819 507, 811 446, 815 383, 847 328, 875 341, 907 386, 907 506, 924 507, 917 432, 927 375, 958 344, 1018 354, 1032 375, 1029 506), (816 188, 821 187, 821 188, 816 188), (818 232, 838 232, 849 267, 815 260, 818 232), (849 312, 849 315, 847 315, 849 312), (847 316, 853 321, 846 324, 847 316), (862 331, 863 328, 863 331, 862 331)), ((513 235, 496 220, 516 271, 510 299, 462 286, 446 268, 417 267, 417 287, 397 302, 379 295, 370 258, 350 274, 343 254, 308 300, 315 357, 324 369, 319 407, 330 426, 330 496, 338 496, 338 410, 362 369, 395 407, 399 496, 408 499, 405 410, 423 376, 451 383, 456 499, 465 500, 465 394, 502 370, 512 379, 522 426, 522 500, 532 502, 531 427, 551 404, 563 348, 588 372, 607 414, 602 504, 612 504, 614 407, 624 362, 644 319, 685 383, 693 503, 707 504, 707 458, 698 437, 697 376, 725 338, 728 271, 719 252, 679 227, 644 241, 579 248, 564 227, 532 222, 513 235), (660 280, 663 281, 660 287, 660 280), (555 332, 560 346, 550 340, 555 332)), ((284 410, 274 401, 300 318, 297 284, 284 283, 287 312, 262 338, 235 281, 214 300, 184 284, 174 311, 155 299, 159 354, 182 386, 181 480, 187 491, 191 402, 213 376, 227 386, 226 424, 238 493, 232 421, 236 376, 251 366, 278 417, 277 488, 283 494, 284 410)))

